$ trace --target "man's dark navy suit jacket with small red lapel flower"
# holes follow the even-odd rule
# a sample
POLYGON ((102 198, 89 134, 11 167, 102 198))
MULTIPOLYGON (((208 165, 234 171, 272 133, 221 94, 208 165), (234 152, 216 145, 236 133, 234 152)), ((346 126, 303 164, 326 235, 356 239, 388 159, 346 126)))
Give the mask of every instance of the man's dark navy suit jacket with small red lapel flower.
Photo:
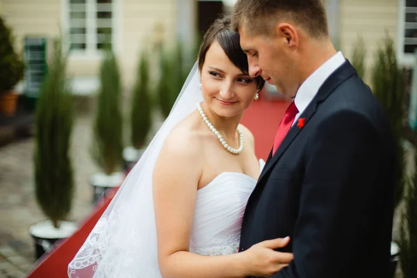
POLYGON ((346 60, 261 172, 240 252, 291 236, 294 260, 272 277, 381 278, 389 273, 393 142, 382 106, 346 60))

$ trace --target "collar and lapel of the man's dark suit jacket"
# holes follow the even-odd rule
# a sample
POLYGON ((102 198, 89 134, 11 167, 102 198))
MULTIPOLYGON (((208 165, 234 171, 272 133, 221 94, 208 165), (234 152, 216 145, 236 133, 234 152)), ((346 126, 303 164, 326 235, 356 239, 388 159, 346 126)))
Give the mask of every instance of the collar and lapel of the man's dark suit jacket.
MULTIPOLYGON (((300 115, 300 118, 305 118, 304 126, 306 124, 309 124, 309 120, 311 117, 313 117, 314 113, 316 112, 316 108, 320 102, 324 101, 331 92, 334 91, 340 85, 345 81, 346 79, 350 78, 353 74, 356 73, 356 70, 354 70, 354 67, 350 65, 350 62, 348 60, 341 65, 341 67, 338 67, 338 69, 333 72, 325 81, 325 83, 322 84, 320 89, 318 90, 316 97, 313 98, 311 103, 306 107, 304 112, 300 115)), ((279 161, 279 158, 281 158, 282 154, 288 149, 288 147, 291 145, 291 142, 298 136, 302 129, 300 129, 297 124, 294 124, 291 129, 286 134, 284 140, 281 142, 281 145, 279 145, 277 152, 272 156, 272 152, 270 153, 270 156, 268 157, 268 161, 265 164, 265 167, 258 179, 258 183, 265 177, 265 174, 268 173, 272 167, 279 161), (272 156, 272 157, 271 157, 272 156)), ((258 187, 258 186, 257 186, 258 187)))

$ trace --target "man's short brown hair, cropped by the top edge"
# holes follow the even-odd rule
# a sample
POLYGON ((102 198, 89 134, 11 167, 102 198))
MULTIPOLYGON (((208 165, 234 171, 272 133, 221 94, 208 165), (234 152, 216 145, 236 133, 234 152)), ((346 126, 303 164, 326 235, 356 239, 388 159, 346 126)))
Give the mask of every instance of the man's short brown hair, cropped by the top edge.
POLYGON ((278 22, 291 21, 313 38, 328 37, 324 0, 238 0, 231 26, 245 26, 251 35, 271 35, 278 22))

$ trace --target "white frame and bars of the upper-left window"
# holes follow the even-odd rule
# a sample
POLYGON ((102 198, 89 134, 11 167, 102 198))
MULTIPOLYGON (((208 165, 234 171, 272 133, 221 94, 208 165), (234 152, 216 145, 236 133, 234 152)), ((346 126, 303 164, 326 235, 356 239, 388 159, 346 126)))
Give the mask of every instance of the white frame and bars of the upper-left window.
MULTIPOLYGON (((112 18, 111 18, 111 44, 113 47, 113 51, 118 52, 120 47, 119 43, 120 38, 118 35, 121 33, 119 30, 120 22, 119 22, 119 8, 121 5, 122 0, 113 0, 112 5, 112 18)), ((69 31, 70 31, 70 0, 61 0, 62 3, 62 33, 63 33, 63 43, 67 48, 70 47, 70 38, 69 38, 69 31)), ((103 51, 101 49, 97 49, 97 20, 95 15, 97 13, 97 1, 96 0, 86 0, 87 3, 87 17, 86 17, 86 29, 87 33, 85 34, 86 37, 86 48, 85 49, 72 49, 70 51, 70 58, 80 58, 80 59, 100 59, 103 51), (88 15, 90 14, 90 16, 88 15), (94 15, 94 16, 91 16, 94 15)))

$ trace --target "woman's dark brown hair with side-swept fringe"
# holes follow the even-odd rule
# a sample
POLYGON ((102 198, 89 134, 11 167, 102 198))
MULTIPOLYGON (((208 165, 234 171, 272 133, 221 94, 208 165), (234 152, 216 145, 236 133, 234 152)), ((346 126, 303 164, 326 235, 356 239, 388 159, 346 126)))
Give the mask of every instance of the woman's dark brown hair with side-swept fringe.
MULTIPOLYGON (((213 42, 217 41, 222 47, 231 63, 236 65, 244 74, 248 74, 247 56, 240 48, 240 35, 231 28, 231 16, 227 15, 219 19, 215 19, 213 24, 204 34, 202 44, 198 53, 198 68, 201 71, 206 60, 206 53, 213 42)), ((258 89, 263 88, 265 81, 261 76, 256 76, 256 84, 258 89)))

